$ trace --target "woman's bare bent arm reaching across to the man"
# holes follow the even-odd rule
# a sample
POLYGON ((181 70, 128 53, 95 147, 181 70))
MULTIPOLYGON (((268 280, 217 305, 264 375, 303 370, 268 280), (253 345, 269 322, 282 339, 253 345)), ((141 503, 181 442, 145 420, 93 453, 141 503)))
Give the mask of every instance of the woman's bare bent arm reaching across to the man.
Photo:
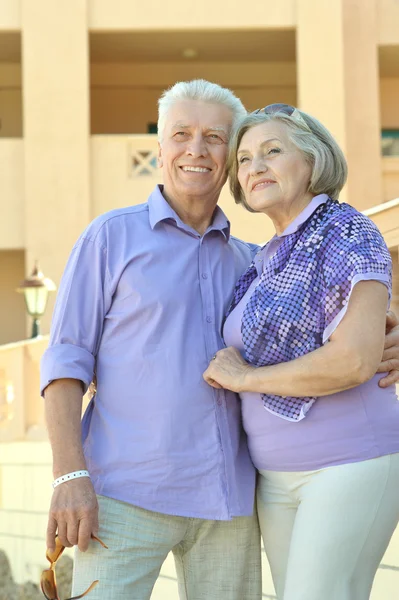
POLYGON ((370 379, 380 364, 388 290, 377 281, 360 281, 330 341, 295 360, 253 367, 235 348, 216 354, 204 379, 213 387, 278 396, 326 396, 370 379))

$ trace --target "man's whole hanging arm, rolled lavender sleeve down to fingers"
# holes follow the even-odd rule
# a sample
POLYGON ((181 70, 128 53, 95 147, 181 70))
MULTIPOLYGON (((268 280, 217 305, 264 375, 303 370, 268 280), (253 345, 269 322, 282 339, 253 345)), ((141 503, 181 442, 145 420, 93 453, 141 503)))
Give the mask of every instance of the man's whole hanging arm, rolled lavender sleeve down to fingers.
MULTIPOLYGON (((68 259, 53 313, 50 341, 41 361, 41 393, 54 457, 54 477, 86 469, 81 442, 82 396, 93 379, 104 318, 112 303, 105 240, 94 222, 68 259)), ((88 477, 61 483, 53 493, 47 544, 56 532, 65 546, 86 550, 98 528, 98 506, 88 477)))

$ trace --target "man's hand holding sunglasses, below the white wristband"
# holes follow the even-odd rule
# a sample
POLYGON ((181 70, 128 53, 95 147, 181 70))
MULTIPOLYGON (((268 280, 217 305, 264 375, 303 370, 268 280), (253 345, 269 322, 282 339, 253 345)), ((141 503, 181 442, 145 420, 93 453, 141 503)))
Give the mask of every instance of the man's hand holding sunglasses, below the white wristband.
POLYGON ((47 547, 55 549, 55 536, 66 548, 78 546, 85 552, 91 534, 98 532, 98 502, 88 477, 57 486, 53 493, 47 526, 47 547))

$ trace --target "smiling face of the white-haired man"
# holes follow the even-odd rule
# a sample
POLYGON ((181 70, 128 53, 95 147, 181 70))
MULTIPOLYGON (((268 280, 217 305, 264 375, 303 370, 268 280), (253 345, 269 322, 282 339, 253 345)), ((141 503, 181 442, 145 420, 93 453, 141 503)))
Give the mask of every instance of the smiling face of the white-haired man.
POLYGON ((159 145, 166 197, 217 202, 227 179, 232 118, 221 104, 182 100, 171 106, 159 145))

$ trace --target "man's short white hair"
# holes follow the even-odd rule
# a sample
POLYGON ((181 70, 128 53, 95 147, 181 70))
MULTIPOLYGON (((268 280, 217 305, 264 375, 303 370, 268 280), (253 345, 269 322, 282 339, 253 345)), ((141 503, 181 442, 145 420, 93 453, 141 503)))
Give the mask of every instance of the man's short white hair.
POLYGON ((160 142, 163 138, 166 115, 170 107, 181 100, 199 100, 227 106, 233 114, 233 127, 236 127, 247 114, 241 100, 231 90, 217 83, 211 83, 205 79, 179 81, 165 90, 158 100, 158 138, 160 142))

